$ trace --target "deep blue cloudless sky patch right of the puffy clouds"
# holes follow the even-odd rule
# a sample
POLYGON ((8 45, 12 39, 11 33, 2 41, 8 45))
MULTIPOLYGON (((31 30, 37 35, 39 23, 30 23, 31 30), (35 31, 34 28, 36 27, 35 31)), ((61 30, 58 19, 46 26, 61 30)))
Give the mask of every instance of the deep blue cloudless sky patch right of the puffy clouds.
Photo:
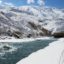
POLYGON ((64 8, 64 0, 46 0, 45 3, 47 6, 64 8))

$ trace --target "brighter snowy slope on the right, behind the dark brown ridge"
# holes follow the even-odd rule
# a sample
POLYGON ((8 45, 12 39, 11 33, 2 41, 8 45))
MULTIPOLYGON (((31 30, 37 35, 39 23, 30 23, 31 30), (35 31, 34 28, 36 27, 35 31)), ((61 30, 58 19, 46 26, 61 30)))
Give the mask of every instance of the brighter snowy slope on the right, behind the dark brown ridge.
POLYGON ((37 16, 43 22, 44 28, 53 33, 64 31, 64 12, 61 9, 23 6, 20 10, 37 16))

